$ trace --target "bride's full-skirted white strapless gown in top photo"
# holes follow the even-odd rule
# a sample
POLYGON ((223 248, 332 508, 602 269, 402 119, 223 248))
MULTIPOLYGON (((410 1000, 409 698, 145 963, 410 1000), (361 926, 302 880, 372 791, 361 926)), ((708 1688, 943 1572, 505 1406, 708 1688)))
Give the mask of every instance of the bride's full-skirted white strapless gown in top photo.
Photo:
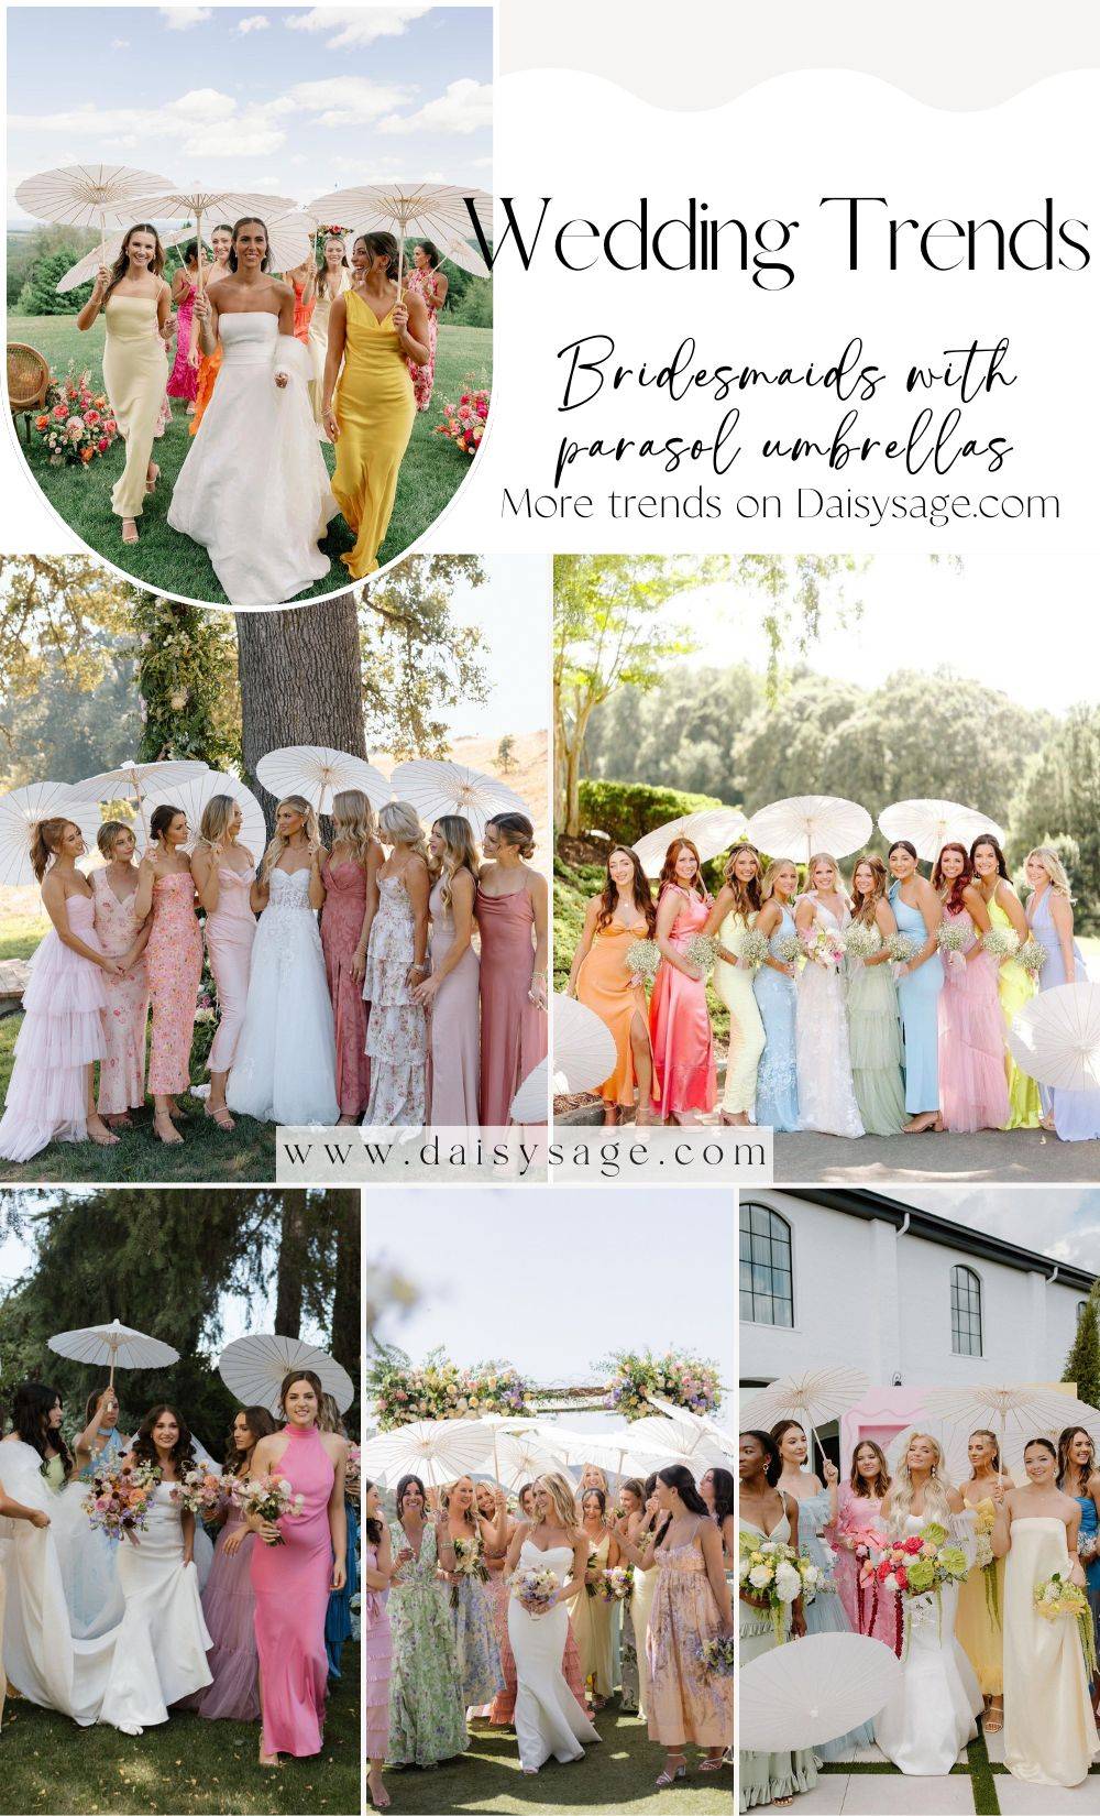
POLYGON ((231 605, 280 605, 325 579, 318 541, 339 510, 309 401, 312 361, 267 311, 220 316, 218 334, 221 370, 169 525, 207 548, 231 605))

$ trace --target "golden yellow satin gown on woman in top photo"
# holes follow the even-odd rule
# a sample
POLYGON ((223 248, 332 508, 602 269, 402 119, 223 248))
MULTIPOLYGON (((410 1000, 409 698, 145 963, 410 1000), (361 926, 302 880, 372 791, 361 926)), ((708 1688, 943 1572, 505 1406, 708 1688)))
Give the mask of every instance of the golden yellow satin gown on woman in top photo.
POLYGON ((339 425, 332 490, 356 534, 343 563, 354 579, 363 579, 378 568, 390 527, 416 398, 392 311, 379 321, 356 291, 347 292, 345 307, 343 372, 332 401, 339 425))

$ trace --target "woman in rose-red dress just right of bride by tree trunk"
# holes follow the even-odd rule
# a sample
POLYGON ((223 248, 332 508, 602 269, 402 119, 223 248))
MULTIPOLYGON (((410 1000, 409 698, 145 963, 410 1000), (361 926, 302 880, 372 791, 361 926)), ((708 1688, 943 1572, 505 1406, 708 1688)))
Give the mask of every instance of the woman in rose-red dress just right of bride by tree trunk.
POLYGON ((321 857, 321 948, 336 1022, 336 1102, 341 1124, 361 1122, 370 1099, 365 962, 358 959, 367 893, 374 888, 385 852, 378 843, 374 808, 359 788, 332 795, 332 850, 321 857))

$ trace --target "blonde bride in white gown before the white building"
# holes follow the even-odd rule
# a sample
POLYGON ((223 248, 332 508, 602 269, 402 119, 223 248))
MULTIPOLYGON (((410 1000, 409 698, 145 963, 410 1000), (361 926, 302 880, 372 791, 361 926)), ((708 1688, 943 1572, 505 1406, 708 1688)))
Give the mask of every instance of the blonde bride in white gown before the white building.
MULTIPOLYGON (((880 1518, 891 1538, 909 1538, 929 1524, 948 1529, 967 1560, 975 1554, 975 1516, 942 1475, 944 1453, 935 1438, 913 1431, 880 1518)), ((946 1776, 977 1734, 982 1712, 978 1680, 955 1638, 958 1589, 906 1600, 902 1676, 875 1716, 875 1740, 899 1771, 946 1776)))

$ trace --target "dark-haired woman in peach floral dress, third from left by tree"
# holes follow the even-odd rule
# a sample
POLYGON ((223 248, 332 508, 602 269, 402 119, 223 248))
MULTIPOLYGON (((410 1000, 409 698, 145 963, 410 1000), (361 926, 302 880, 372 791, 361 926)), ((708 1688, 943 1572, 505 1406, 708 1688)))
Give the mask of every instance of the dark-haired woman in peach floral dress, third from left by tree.
POLYGON ((151 919, 145 964, 152 999, 152 1044, 147 1088, 152 1126, 160 1140, 183 1140, 172 1122, 176 1097, 191 1088, 194 1006, 203 973, 203 939, 194 912, 194 877, 187 844, 187 815, 178 806, 156 806, 149 819, 151 844, 138 870, 134 915, 151 919))

